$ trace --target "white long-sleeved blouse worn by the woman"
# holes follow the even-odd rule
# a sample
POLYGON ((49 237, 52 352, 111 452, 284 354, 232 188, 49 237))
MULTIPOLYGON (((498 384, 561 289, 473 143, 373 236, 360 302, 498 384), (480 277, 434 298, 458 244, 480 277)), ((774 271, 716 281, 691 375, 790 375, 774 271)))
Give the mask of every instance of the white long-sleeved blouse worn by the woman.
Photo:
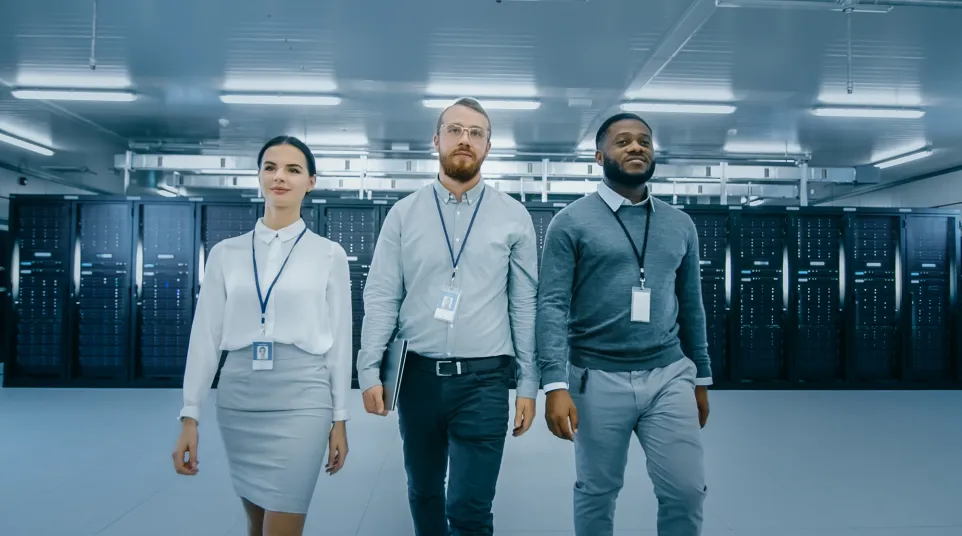
MULTIPOLYGON (((254 230, 210 250, 190 331, 181 418, 200 422, 200 408, 217 373, 221 351, 251 346, 261 335, 261 309, 254 284, 251 233, 256 240, 261 293, 267 295, 303 220, 274 231, 258 220, 254 230)), ((294 249, 267 302, 265 333, 275 344, 292 344, 325 355, 331 371, 334 420, 346 421, 351 390, 353 330, 347 254, 308 230, 294 249)))

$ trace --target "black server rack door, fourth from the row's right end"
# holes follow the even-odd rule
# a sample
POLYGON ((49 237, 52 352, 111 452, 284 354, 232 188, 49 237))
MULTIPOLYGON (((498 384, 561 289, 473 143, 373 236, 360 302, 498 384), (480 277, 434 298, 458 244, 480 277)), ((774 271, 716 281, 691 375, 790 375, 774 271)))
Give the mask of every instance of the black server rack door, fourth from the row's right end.
POLYGON ((738 321, 732 374, 737 381, 787 379, 783 317, 785 294, 784 215, 742 214, 737 225, 738 321))

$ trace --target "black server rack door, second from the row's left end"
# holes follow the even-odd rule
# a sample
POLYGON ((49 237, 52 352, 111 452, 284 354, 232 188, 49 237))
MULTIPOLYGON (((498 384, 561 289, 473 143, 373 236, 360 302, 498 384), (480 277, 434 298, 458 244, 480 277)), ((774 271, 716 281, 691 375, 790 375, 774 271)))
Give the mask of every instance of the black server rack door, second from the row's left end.
POLYGON ((132 205, 79 202, 77 360, 71 375, 126 379, 133 292, 132 205))

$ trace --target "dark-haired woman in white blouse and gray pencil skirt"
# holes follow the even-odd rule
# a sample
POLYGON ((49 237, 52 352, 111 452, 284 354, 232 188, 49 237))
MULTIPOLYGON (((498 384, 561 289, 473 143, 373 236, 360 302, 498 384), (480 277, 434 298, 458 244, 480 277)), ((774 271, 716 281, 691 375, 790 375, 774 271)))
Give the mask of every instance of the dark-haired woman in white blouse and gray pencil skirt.
POLYGON ((347 457, 351 282, 344 249, 307 229, 314 157, 278 137, 257 159, 264 217, 210 250, 190 333, 179 474, 197 474, 197 427, 221 351, 217 422, 253 535, 300 535, 326 470, 347 457))

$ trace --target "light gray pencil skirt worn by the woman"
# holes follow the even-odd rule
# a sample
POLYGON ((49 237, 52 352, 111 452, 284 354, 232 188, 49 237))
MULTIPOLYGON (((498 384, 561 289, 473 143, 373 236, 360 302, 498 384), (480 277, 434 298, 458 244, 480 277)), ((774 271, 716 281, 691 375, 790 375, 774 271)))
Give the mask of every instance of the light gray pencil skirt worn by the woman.
POLYGON ((252 370, 251 348, 230 352, 217 422, 237 494, 272 512, 307 514, 334 418, 325 357, 274 345, 273 370, 252 370))

